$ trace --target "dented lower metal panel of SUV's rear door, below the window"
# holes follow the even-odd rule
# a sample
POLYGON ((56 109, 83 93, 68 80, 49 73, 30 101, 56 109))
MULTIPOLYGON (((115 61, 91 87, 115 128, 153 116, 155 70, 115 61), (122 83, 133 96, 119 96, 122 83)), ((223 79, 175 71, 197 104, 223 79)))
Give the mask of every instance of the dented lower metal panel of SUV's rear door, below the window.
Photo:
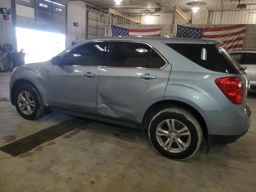
POLYGON ((149 106, 164 99, 170 70, 170 64, 162 70, 102 67, 97 88, 98 114, 142 122, 149 106), (153 77, 143 78, 145 74, 153 77))

